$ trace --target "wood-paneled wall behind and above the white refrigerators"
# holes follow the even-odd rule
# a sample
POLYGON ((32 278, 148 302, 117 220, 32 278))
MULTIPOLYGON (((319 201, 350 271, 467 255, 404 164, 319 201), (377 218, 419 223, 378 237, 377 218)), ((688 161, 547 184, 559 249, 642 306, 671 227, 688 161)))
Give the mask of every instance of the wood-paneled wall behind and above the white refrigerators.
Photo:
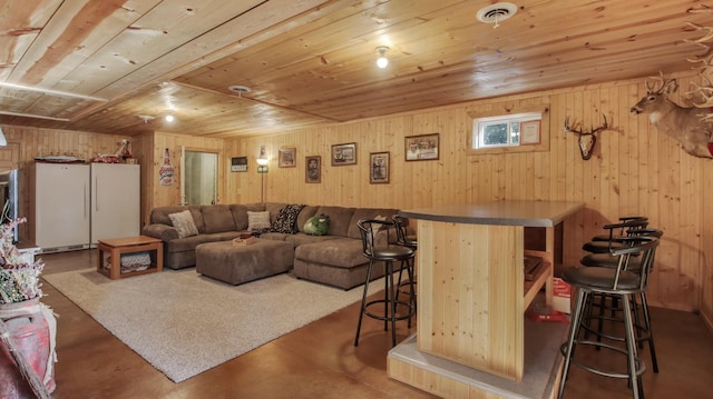
MULTIPOLYGON (((52 130, 25 128, 19 126, 2 126, 2 131, 8 140, 8 147, 0 151, 18 151, 17 164, 19 198, 18 215, 30 215, 29 207, 35 203, 29 198, 30 177, 29 170, 36 157, 71 156, 79 159, 91 160, 99 153, 114 153, 124 136, 97 134, 90 132, 77 132, 69 130, 52 130)), ((4 158, 4 157, 3 157, 4 158)), ((28 220, 28 223, 32 222, 28 220)), ((29 229, 27 223, 20 225, 20 239, 28 240, 29 229)))

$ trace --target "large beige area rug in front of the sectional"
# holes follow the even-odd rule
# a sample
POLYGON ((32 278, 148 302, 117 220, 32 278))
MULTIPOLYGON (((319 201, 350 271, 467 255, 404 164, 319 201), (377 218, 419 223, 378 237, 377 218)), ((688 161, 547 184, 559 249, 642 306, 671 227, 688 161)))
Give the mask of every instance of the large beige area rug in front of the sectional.
MULTIPOLYGON (((82 269, 45 279, 174 382, 359 301, 363 292, 287 275, 235 287, 195 269, 121 280, 82 269)), ((369 287, 373 293, 383 281, 369 287)))

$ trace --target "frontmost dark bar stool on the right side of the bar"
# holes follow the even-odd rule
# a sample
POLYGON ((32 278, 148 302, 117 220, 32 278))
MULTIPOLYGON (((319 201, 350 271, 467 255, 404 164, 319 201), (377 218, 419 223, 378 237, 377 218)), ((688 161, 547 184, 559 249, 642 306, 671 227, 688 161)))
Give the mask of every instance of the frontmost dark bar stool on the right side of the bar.
POLYGON ((567 341, 561 345, 560 351, 565 357, 565 365, 559 381, 558 398, 561 399, 567 381, 569 367, 574 363, 587 371, 615 378, 627 378, 635 399, 643 398, 641 375, 646 370, 645 363, 637 357, 635 327, 632 318, 631 296, 644 292, 648 288, 648 275, 654 263, 658 239, 655 237, 624 238, 625 247, 612 250, 612 256, 617 258, 617 267, 612 268, 567 268, 563 272, 563 280, 576 288, 576 299, 573 308, 572 322, 567 341), (628 270, 629 260, 634 256, 641 257, 641 272, 628 270), (623 303, 625 348, 602 341, 592 341, 579 338, 584 329, 584 312, 587 300, 593 293, 607 293, 616 297, 623 303), (579 345, 595 346, 609 349, 626 356, 627 373, 607 371, 585 365, 574 359, 575 349, 579 345))

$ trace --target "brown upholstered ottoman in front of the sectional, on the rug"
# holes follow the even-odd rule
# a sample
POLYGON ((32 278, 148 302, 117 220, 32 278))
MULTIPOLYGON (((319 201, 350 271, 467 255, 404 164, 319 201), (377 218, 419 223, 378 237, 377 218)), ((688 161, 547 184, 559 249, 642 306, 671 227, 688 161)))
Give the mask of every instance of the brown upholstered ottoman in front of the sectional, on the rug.
POLYGON ((196 247, 196 271, 234 286, 283 273, 293 261, 294 248, 285 241, 256 239, 248 246, 221 241, 196 247))

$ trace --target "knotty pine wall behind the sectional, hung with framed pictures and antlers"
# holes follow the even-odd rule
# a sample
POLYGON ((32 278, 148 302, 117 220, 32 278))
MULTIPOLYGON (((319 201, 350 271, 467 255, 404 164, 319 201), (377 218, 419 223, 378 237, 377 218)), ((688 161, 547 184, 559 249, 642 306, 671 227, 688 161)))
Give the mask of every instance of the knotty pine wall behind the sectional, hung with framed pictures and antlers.
MULTIPOLYGON (((676 74, 682 91, 690 73, 676 74)), ((653 305, 701 310, 713 320, 713 160, 694 158, 676 141, 657 131, 646 116, 629 108, 646 92, 644 79, 511 96, 430 109, 354 123, 296 130, 270 137, 227 141, 233 156, 250 157, 247 173, 237 174, 228 202, 265 200, 354 207, 414 208, 487 200, 570 200, 586 210, 565 226, 565 265, 576 265, 582 243, 600 233, 603 225, 624 215, 645 215, 665 231, 649 287, 653 305), (508 110, 543 101, 550 103, 547 152, 467 154, 471 131, 469 112, 508 110), (565 133, 566 116, 599 126, 606 114, 609 129, 599 134, 594 157, 584 161, 577 138, 565 133), (440 159, 404 161, 404 137, 440 133, 440 159), (355 142, 358 164, 332 167, 332 144, 355 142), (270 172, 255 171, 264 144, 272 159, 270 172), (295 147, 296 168, 277 168, 281 147, 295 147), (369 183, 370 152, 390 151, 391 182, 369 183), (304 182, 304 157, 322 157, 322 182, 304 182), (238 193, 240 190, 240 193, 238 193)), ((427 93, 424 93, 427 96, 427 93)), ((680 101, 680 98, 674 99, 680 101)))

